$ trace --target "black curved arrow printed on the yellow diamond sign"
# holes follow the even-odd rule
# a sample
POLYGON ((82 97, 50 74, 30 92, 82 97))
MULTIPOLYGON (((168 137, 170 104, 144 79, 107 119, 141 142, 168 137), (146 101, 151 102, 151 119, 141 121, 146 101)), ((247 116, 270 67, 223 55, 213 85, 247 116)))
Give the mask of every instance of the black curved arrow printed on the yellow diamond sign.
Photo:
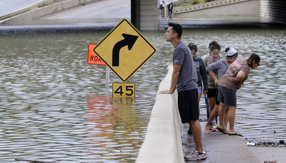
POLYGON ((128 50, 131 50, 132 46, 136 42, 138 36, 134 35, 128 35, 125 33, 122 33, 122 36, 124 37, 123 40, 118 41, 113 49, 112 49, 112 66, 119 66, 119 51, 122 47, 128 45, 128 50))

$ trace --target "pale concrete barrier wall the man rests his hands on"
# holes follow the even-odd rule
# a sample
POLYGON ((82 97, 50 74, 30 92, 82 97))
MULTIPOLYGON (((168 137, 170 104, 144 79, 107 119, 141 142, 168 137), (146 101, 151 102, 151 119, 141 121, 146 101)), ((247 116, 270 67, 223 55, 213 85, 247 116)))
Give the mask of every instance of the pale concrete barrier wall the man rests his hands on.
MULTIPOLYGON (((160 83, 158 92, 169 90, 173 66, 160 83)), ((136 163, 183 163, 181 119, 178 111, 178 94, 157 94, 144 143, 136 163)))

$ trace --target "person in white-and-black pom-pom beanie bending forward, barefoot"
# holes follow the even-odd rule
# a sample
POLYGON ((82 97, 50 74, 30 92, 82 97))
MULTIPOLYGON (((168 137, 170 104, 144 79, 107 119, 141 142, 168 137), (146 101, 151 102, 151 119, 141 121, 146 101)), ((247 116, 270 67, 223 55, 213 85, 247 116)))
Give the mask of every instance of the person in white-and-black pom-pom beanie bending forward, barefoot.
MULTIPOLYGON (((215 85, 217 86, 218 82, 219 82, 219 79, 225 74, 225 72, 228 70, 229 68, 229 65, 231 63, 233 63, 235 61, 235 59, 237 59, 238 57, 238 53, 237 51, 230 47, 229 44, 227 44, 226 46, 226 50, 225 50, 225 59, 220 59, 219 61, 211 64, 207 71, 208 73, 212 76, 212 78, 215 79, 215 85), (217 71, 218 72, 218 78, 217 76, 215 75, 215 73, 213 71, 217 71)), ((225 121, 225 130, 220 130, 219 128, 217 128, 219 131, 223 132, 224 134, 228 134, 228 131, 227 131, 227 122, 228 122, 228 108, 225 109, 225 118, 224 118, 224 121, 225 121)), ((209 116, 209 119, 208 119, 208 122, 206 123, 206 126, 204 126, 204 133, 208 134, 210 133, 209 132, 209 126, 211 124, 211 121, 215 118, 215 116, 217 116, 219 112, 219 108, 218 107, 215 107, 215 109, 210 113, 210 116, 209 116)), ((221 119, 220 119, 221 120, 221 119)))

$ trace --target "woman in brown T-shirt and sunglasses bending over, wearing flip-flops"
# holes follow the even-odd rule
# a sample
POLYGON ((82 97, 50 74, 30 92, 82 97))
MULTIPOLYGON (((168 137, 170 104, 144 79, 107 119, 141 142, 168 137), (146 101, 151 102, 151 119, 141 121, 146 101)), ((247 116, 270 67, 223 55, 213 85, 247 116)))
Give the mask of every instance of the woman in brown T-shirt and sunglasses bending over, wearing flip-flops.
POLYGON ((254 69, 259 65, 260 57, 257 54, 252 53, 248 59, 239 58, 234 61, 231 65, 229 65, 227 72, 221 77, 221 79, 219 79, 219 130, 224 131, 226 129, 224 124, 224 117, 225 108, 228 107, 229 135, 243 136, 241 133, 234 129, 235 110, 237 107, 236 92, 241 88, 244 81, 248 78, 250 72, 249 67, 254 69))

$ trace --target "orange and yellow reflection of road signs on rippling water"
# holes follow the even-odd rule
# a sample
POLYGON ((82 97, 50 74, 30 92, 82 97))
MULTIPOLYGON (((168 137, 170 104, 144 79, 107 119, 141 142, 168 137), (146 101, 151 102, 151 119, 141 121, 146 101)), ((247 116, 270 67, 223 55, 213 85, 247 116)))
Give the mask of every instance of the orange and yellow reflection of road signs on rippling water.
MULTIPOLYGON (((129 155, 138 152, 144 137, 145 127, 148 121, 138 123, 142 115, 134 109, 134 98, 116 98, 110 96, 97 96, 87 94, 88 122, 88 144, 92 146, 89 151, 97 158, 105 157, 102 154, 112 156, 129 155), (140 132, 134 135, 134 131, 140 132), (136 139, 136 142, 131 140, 136 139), (124 140, 124 141, 123 141, 124 140), (132 144, 129 144, 129 141, 132 144), (130 152, 114 152, 114 149, 126 150, 130 152)), ((130 156, 134 156, 133 154, 130 156)))

